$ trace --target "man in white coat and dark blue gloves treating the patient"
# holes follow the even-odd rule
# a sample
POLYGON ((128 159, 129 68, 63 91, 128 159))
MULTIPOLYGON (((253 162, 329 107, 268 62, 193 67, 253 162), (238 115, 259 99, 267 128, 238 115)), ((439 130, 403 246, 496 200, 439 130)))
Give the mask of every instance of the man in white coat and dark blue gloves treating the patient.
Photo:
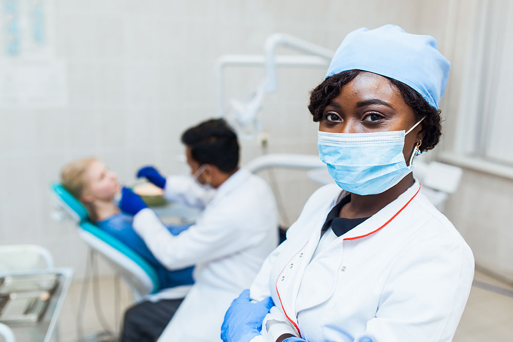
POLYGON ((195 283, 159 340, 212 342, 220 340, 232 299, 278 245, 278 210, 265 180, 239 167, 239 143, 223 119, 188 129, 182 142, 192 177, 165 178, 154 167, 137 176, 164 189, 168 200, 201 208, 196 223, 174 236, 126 188, 120 207, 135 215, 134 230, 167 269, 195 265, 195 283))

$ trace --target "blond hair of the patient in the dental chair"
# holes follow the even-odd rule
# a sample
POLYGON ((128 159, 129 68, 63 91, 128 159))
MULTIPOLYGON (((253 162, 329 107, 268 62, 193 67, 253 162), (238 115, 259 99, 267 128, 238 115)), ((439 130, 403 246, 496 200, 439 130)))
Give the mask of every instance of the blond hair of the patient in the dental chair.
POLYGON ((87 169, 97 160, 98 159, 93 157, 77 159, 65 165, 61 171, 62 186, 75 196, 82 205, 84 205, 87 209, 87 213, 89 214, 89 219, 93 222, 97 218, 96 211, 91 203, 84 202, 81 197, 87 186, 87 179, 85 177, 87 169))

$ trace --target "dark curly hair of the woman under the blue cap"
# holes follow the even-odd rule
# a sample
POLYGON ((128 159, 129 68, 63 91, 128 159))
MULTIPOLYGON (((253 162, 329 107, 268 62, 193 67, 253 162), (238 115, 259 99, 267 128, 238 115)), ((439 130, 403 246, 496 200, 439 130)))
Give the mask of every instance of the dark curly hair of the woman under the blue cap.
MULTIPOLYGON (((361 70, 348 70, 329 76, 310 92, 308 110, 312 114, 314 122, 319 122, 322 119, 324 108, 328 106, 333 98, 340 94, 342 87, 351 82, 360 72, 361 70)), ((411 87, 396 79, 387 78, 391 84, 399 89, 404 102, 411 107, 416 118, 420 120, 422 117, 426 117, 422 121, 424 139, 422 140, 420 150, 424 152, 432 149, 438 144, 440 136, 442 135, 442 120, 440 117, 442 111, 431 107, 426 100, 411 87)))

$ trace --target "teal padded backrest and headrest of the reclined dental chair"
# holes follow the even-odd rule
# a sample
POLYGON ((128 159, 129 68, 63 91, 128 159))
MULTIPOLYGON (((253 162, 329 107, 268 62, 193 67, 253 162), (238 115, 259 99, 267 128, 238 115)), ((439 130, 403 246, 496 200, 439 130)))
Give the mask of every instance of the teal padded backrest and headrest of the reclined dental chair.
MULTIPOLYGON (((62 185, 54 183, 51 185, 51 189, 60 209, 63 209, 78 224, 80 238, 92 251, 101 254, 126 281, 136 301, 161 290, 155 270, 145 259, 92 224, 89 221, 86 208, 62 185)), ((184 295, 183 293, 177 294, 176 298, 184 295)))

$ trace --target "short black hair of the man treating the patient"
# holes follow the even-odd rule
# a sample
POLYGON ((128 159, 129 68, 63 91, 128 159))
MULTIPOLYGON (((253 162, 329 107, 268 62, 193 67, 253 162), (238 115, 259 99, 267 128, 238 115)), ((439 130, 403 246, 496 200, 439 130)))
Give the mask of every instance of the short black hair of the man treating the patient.
POLYGON ((200 165, 214 165, 225 173, 239 166, 237 135, 224 119, 210 119, 189 128, 182 134, 182 143, 200 165))

